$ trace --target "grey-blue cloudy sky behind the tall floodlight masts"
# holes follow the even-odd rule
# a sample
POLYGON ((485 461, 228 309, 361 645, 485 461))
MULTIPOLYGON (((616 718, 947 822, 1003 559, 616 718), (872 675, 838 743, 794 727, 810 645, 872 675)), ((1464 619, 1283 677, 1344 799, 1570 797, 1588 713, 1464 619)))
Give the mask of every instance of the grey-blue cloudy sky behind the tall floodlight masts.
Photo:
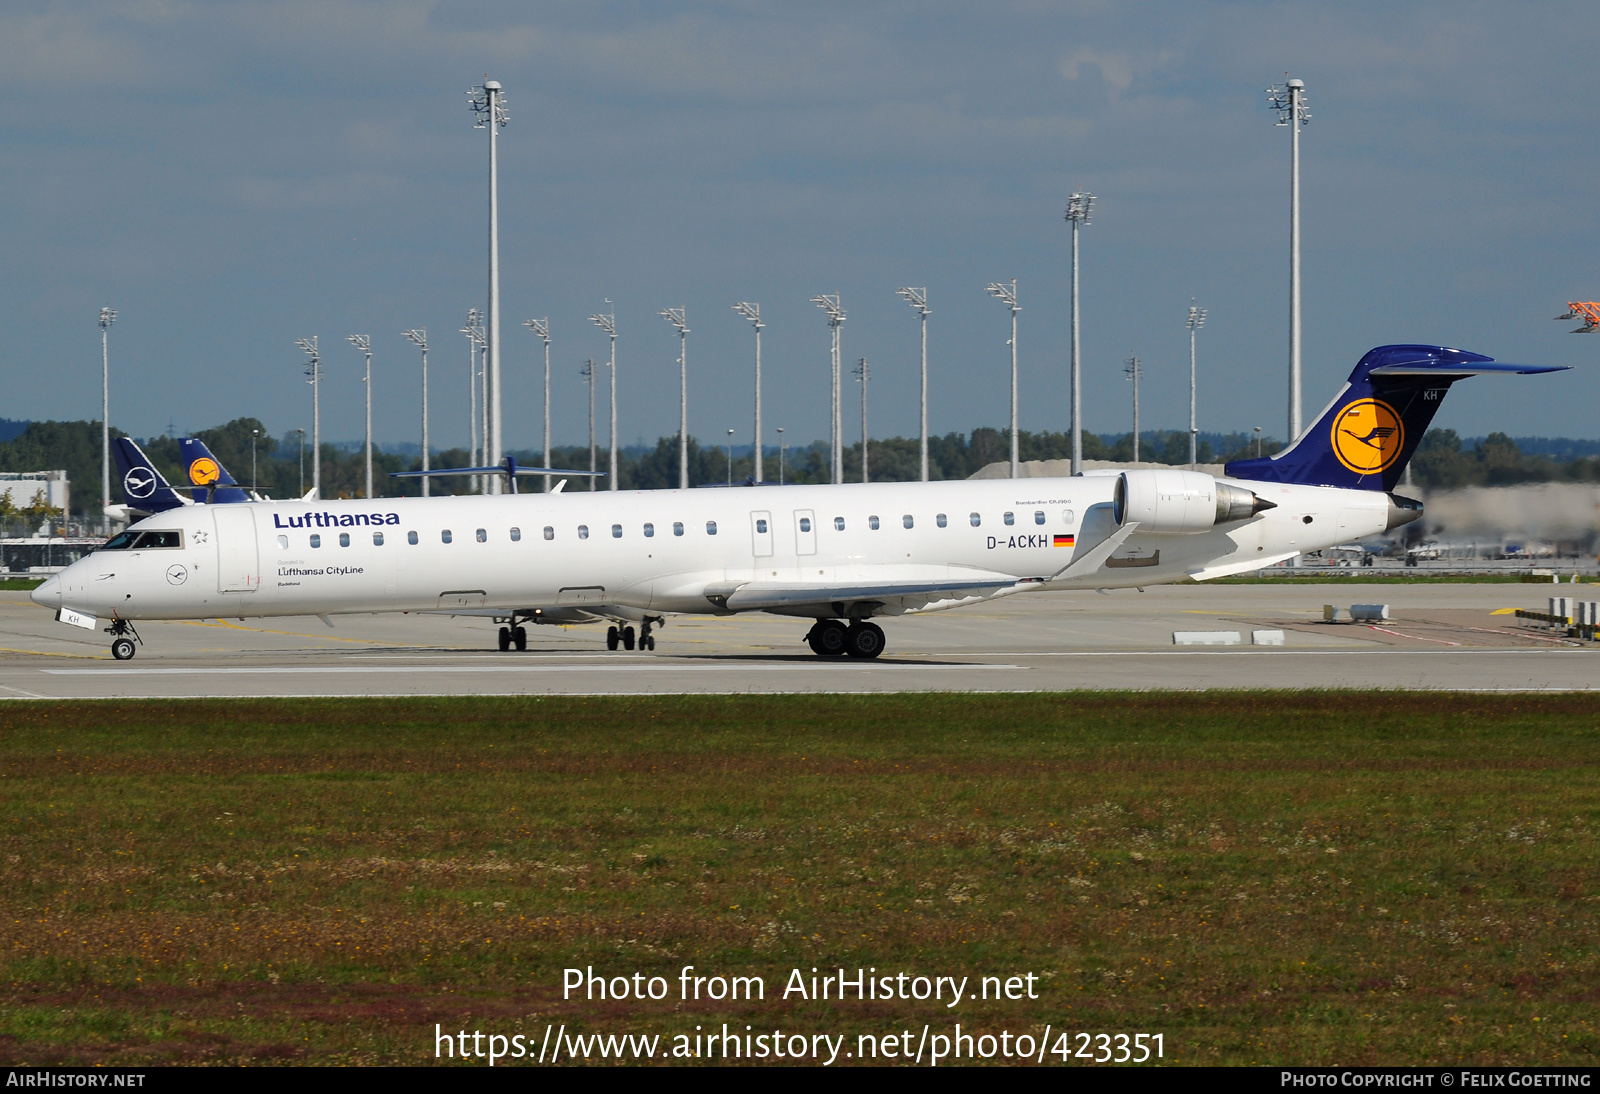
MULTIPOLYGON (((1384 342, 1578 366, 1464 384, 1462 433, 1600 435, 1600 337, 1552 323, 1600 297, 1589 98, 1600 30, 1578 3, 386 3, 14 0, 0 8, 6 417, 98 417, 102 304, 112 421, 152 435, 254 414, 309 427, 294 339, 325 350, 323 435, 461 443, 485 301, 486 136, 466 94, 506 86, 501 138, 507 440, 539 443, 549 317, 557 443, 586 433, 587 317, 616 301, 621 437, 750 432, 758 301, 768 443, 827 435, 827 326, 872 363, 872 432, 915 432, 926 286, 936 432, 1008 414, 1018 278, 1022 427, 1067 422, 1066 195, 1083 234, 1085 424, 1187 416, 1282 433, 1288 131, 1262 90, 1309 86, 1302 138, 1306 414, 1384 342)), ((846 437, 856 433, 856 387, 846 437)))

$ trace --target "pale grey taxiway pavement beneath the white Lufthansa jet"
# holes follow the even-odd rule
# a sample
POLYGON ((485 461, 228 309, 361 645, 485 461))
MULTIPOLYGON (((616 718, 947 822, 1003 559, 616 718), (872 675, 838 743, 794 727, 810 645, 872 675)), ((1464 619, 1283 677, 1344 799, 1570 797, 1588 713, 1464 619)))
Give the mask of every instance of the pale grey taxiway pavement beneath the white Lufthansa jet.
MULTIPOLYGON (((1592 589, 1592 587, 1590 587, 1592 589)), ((1170 585, 1027 593, 880 621, 877 661, 819 659, 806 621, 669 619, 653 653, 605 649, 605 627, 530 627, 494 649, 485 619, 334 616, 147 622, 115 662, 109 640, 0 592, 0 697, 486 696, 672 693, 1074 691, 1205 688, 1600 689, 1600 646, 1517 627, 1584 585, 1170 585), (1325 603, 1387 603, 1376 625, 1323 624, 1325 603), (1494 614, 1501 611, 1502 614, 1494 614), (1283 646, 1174 646, 1174 630, 1282 629, 1283 646)))

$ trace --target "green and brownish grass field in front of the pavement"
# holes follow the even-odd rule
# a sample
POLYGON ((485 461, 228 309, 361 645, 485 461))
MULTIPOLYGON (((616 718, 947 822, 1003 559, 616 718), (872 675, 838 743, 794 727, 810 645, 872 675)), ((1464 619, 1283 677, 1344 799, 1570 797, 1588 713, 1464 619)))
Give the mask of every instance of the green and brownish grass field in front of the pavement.
POLYGON ((962 1022, 1594 1065, 1597 776, 1582 696, 5 704, 0 1059, 962 1022), (685 964, 766 998, 680 1003, 685 964), (563 1000, 570 966, 672 995, 563 1000), (779 998, 813 966, 1038 998, 779 998))

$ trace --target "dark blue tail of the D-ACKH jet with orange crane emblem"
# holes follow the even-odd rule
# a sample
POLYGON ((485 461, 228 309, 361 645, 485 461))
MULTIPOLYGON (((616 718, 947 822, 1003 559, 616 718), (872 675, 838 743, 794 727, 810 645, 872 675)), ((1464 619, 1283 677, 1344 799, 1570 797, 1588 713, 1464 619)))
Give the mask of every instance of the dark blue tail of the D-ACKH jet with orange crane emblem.
POLYGON ((1235 459, 1230 478, 1390 491, 1405 473, 1450 385, 1486 373, 1560 373, 1565 366, 1506 365, 1443 345, 1379 345, 1315 425, 1275 456, 1235 459))

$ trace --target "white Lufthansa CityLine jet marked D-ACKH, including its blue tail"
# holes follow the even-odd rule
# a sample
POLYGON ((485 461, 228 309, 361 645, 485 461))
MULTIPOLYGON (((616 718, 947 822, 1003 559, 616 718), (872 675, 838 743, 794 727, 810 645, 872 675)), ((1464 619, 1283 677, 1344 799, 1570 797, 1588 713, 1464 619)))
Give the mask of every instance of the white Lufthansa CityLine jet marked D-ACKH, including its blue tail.
MULTIPOLYGON (((139 521, 34 590, 134 654, 142 619, 493 613, 523 649, 542 609, 766 611, 813 619, 819 656, 875 657, 875 617, 1035 590, 1142 587, 1258 569, 1394 529, 1392 491, 1448 387, 1544 373, 1437 345, 1366 353, 1283 453, 1214 478, 749 486, 186 505, 139 521)), ((632 637, 632 635, 629 635, 632 637)), ((632 643, 629 643, 632 645, 632 643)))

